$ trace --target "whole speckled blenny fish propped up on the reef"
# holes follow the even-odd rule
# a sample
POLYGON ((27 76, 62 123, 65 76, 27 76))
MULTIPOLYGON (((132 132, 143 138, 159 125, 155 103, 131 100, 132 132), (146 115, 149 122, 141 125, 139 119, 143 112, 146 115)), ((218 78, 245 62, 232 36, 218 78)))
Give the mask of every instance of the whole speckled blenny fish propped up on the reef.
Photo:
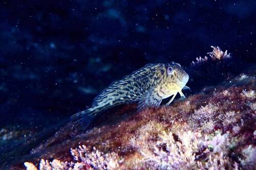
POLYGON ((111 107, 138 102, 138 110, 150 106, 159 106, 161 101, 169 96, 169 105, 179 93, 185 98, 182 89, 188 88, 188 74, 178 63, 146 64, 132 72, 131 75, 114 81, 103 89, 93 100, 91 108, 71 116, 77 128, 87 128, 93 118, 111 107))

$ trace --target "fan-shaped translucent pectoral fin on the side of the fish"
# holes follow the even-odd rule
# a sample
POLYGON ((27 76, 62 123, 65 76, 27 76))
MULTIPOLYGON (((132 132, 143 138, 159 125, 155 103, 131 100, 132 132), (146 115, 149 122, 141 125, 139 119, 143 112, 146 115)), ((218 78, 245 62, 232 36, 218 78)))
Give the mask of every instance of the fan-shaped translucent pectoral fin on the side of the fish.
POLYGON ((157 90, 151 89, 144 96, 141 101, 138 103, 138 110, 142 110, 147 106, 159 106, 162 102, 161 96, 159 96, 157 90))

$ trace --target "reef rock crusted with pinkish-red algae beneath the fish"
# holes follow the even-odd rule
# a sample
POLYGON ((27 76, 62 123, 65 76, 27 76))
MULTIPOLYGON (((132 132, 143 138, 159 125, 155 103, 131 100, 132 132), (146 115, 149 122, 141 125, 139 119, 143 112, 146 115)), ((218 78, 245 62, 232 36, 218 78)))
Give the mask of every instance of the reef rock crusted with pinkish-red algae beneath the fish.
POLYGON ((238 63, 213 48, 185 68, 198 89, 186 99, 140 112, 136 104, 115 107, 87 131, 60 123, 19 143, 3 168, 256 169, 256 67, 231 74, 238 63))

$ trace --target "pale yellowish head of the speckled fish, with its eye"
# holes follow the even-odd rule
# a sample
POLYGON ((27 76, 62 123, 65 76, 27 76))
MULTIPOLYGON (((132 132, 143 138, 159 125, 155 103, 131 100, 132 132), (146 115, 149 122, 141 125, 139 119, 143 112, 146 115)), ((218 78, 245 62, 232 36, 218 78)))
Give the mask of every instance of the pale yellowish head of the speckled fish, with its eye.
POLYGON ((167 87, 170 90, 181 90, 188 82, 189 76, 179 63, 167 65, 167 87))

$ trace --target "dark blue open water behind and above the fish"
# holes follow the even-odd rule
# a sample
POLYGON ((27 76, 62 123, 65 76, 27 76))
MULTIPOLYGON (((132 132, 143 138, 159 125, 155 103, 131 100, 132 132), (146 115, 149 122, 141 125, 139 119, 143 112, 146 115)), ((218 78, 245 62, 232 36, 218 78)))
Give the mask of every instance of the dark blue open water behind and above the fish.
MULTIPOLYGON (((189 67, 211 45, 231 53, 236 64, 225 71, 239 74, 255 64, 255 6, 256 1, 2 1, 0 131, 40 132, 90 106, 101 89, 135 69, 170 61, 189 67)), ((221 81, 188 83, 200 89, 221 81)), ((8 145, 2 143, 0 149, 8 145)))

